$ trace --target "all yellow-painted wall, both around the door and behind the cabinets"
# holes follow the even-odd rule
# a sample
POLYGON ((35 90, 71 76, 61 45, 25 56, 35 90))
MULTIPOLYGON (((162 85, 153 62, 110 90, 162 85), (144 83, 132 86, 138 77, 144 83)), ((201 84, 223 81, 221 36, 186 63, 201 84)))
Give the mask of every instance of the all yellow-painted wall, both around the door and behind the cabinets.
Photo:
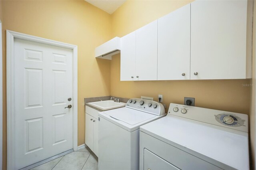
MULTIPOLYGON (((94 58, 96 46, 114 36, 122 37, 184 6, 186 0, 128 0, 114 14, 85 1, 2 2, 3 35, 6 29, 78 45, 78 145, 84 143, 84 97, 154 97, 163 95, 167 106, 195 97, 196 106, 249 113, 250 80, 122 81, 120 54, 112 61, 94 58), (208 99, 207 99, 207 98, 208 99)), ((0 13, 1 16, 1 13, 0 13)), ((3 36, 6 63, 6 36, 3 36)), ((6 65, 3 65, 3 169, 6 169, 6 65)), ((167 110, 166 110, 167 111, 167 110)))

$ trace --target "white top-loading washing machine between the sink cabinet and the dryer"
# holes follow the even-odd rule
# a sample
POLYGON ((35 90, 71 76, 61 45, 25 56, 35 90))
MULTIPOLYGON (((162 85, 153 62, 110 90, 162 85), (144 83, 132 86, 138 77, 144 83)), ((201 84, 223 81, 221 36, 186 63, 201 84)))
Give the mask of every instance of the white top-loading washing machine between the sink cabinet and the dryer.
POLYGON ((166 116, 156 101, 130 99, 126 107, 99 113, 99 170, 138 170, 140 126, 166 116))

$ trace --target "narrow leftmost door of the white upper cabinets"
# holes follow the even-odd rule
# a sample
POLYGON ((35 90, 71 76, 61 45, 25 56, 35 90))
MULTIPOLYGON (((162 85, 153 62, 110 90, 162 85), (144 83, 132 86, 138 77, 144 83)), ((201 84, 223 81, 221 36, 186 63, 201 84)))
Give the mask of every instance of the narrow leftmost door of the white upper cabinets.
POLYGON ((136 80, 136 32, 121 38, 121 81, 136 80))

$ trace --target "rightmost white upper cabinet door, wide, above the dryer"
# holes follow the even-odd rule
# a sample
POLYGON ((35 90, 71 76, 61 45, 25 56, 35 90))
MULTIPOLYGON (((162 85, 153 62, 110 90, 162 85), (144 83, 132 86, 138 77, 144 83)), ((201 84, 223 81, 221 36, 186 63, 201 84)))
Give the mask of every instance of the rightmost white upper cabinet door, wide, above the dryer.
POLYGON ((246 20, 246 0, 191 3, 191 79, 246 78, 246 20))

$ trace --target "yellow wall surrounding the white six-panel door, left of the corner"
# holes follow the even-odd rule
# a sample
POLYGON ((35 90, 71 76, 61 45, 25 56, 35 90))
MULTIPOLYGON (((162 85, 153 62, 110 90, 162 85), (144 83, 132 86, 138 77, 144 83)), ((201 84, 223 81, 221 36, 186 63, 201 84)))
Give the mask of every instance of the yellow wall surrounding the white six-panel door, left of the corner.
MULTIPOLYGON (((78 45, 78 145, 84 144, 84 97, 110 95, 110 61, 94 58, 95 47, 111 38, 110 15, 84 0, 4 0, 2 16, 3 63, 6 63, 6 30, 78 45)), ((3 170, 5 170, 5 64, 3 75, 3 170)))

